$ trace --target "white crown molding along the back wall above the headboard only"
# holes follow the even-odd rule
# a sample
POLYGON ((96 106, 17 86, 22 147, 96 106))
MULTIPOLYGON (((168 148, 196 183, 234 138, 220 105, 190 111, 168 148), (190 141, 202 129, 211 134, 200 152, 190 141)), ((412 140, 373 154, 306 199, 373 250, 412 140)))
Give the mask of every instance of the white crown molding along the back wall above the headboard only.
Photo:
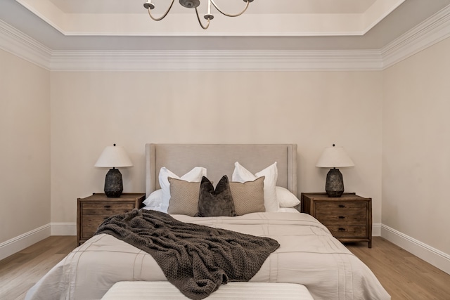
POLYGON ((54 51, 52 71, 380 70, 378 51, 54 51))

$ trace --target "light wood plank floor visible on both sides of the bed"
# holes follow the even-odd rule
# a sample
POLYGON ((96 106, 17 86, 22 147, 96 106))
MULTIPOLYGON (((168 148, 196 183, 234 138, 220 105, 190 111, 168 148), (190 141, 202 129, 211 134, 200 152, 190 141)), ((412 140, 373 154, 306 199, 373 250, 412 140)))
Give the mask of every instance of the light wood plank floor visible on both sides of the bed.
MULTIPOLYGON (((367 243, 346 244, 373 270, 392 300, 449 300, 450 275, 418 259, 382 237, 367 243)), ((48 237, 0 261, 0 299, 24 299, 51 267, 76 247, 76 237, 48 237)), ((330 299, 333 300, 333 299, 330 299)))

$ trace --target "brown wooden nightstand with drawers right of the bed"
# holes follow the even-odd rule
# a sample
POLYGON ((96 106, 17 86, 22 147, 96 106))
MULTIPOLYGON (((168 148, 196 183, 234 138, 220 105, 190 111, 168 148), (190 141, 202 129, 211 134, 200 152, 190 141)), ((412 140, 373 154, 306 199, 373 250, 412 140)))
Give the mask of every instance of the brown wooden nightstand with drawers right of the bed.
POLYGON ((340 242, 368 242, 372 247, 372 199, 354 193, 330 198, 326 193, 302 193, 302 212, 314 216, 340 242))

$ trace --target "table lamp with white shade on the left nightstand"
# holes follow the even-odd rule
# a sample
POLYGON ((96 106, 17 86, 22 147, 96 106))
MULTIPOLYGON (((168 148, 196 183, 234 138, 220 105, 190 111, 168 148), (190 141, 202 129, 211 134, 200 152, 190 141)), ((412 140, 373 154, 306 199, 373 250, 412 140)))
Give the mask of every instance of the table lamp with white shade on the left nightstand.
POLYGON ((127 152, 120 146, 107 146, 100 157, 98 157, 94 167, 113 168, 108 171, 105 178, 105 195, 107 197, 117 198, 122 195, 124 185, 122 183, 122 174, 115 168, 131 167, 133 163, 129 159, 127 152))

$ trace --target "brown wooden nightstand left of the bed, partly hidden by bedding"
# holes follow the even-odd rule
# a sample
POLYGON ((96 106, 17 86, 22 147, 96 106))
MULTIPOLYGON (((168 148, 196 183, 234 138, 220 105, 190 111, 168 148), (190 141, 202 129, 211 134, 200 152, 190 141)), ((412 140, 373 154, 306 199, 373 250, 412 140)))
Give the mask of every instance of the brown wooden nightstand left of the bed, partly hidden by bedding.
POLYGON ((141 208, 144 193, 123 193, 118 198, 108 198, 94 193, 77 199, 77 243, 82 244, 94 235, 98 226, 108 217, 141 208))

